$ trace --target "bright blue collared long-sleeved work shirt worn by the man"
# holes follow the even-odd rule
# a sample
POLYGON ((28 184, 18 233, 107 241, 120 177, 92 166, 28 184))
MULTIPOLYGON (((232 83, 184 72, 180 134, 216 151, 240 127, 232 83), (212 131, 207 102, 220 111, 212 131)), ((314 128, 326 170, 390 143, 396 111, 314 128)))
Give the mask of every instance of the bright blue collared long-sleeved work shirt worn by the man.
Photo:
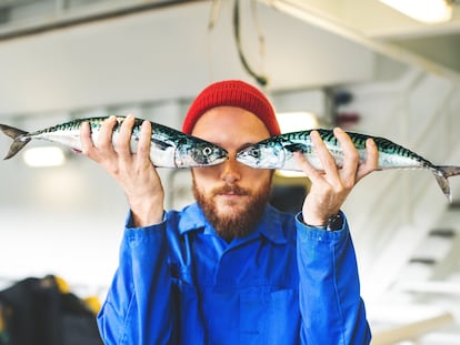
POLYGON ((268 206, 226 243, 197 204, 132 229, 98 316, 106 344, 369 344, 347 222, 337 232, 268 206))

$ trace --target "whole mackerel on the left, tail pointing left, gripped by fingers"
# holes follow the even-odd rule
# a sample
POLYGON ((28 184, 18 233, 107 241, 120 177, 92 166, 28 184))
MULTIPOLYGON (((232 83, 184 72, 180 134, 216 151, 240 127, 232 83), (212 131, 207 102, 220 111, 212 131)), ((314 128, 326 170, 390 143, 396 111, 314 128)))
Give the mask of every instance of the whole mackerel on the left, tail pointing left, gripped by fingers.
MULTIPOLYGON (((108 116, 76 119, 36 132, 27 132, 7 124, 0 124, 0 131, 10 136, 13 142, 4 160, 11 159, 21 151, 31 140, 46 140, 69 146, 81 152, 80 128, 88 122, 91 129, 91 139, 97 142, 102 122, 108 116)), ((124 116, 117 116, 112 142, 117 140, 124 116)), ((136 118, 131 135, 131 152, 137 151, 141 124, 144 120, 136 118)), ((157 168, 198 168, 217 165, 228 160, 228 151, 202 139, 188 135, 169 126, 153 123, 150 160, 157 168)))

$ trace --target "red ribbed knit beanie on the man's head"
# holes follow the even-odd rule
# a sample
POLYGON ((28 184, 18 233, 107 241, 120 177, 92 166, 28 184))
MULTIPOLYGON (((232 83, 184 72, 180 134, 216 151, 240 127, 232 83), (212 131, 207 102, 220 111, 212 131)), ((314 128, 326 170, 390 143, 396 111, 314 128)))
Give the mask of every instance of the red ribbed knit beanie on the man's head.
POLYGON ((281 133, 274 110, 266 95, 240 80, 226 80, 210 84, 194 99, 187 112, 182 132, 190 134, 198 119, 214 106, 242 108, 257 115, 266 124, 270 135, 281 133))

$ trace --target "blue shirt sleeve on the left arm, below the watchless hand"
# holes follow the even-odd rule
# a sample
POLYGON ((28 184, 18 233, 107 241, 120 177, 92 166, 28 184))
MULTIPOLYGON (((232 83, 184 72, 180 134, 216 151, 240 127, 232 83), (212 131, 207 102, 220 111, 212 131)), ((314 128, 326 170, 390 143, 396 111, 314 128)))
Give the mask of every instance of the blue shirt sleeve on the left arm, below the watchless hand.
POLYGON ((173 321, 166 219, 139 229, 130 227, 130 219, 119 267, 98 315, 99 331, 106 345, 168 344, 173 321))

